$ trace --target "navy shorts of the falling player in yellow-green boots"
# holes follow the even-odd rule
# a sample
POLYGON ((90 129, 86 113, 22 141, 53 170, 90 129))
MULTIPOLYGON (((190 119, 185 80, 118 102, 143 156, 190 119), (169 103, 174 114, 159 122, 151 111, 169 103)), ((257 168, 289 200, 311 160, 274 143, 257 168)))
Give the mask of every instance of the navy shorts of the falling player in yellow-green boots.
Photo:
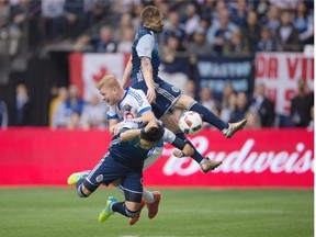
MULTIPOLYGON (((131 192, 133 196, 143 194, 143 169, 131 168, 117 162, 111 154, 100 160, 91 170, 86 181, 94 188, 101 184, 109 185, 111 182, 121 179, 121 187, 124 191, 131 192)), ((128 200, 138 201, 138 200, 128 200)))

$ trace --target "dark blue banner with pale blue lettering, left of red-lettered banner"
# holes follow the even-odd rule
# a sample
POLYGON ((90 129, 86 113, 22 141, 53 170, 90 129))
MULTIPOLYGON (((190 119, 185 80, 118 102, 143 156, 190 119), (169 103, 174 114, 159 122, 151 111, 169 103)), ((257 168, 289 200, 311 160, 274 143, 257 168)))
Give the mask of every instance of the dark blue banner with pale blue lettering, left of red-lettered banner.
POLYGON ((196 70, 199 86, 210 88, 216 97, 222 95, 227 82, 236 91, 253 90, 253 57, 199 56, 196 70))

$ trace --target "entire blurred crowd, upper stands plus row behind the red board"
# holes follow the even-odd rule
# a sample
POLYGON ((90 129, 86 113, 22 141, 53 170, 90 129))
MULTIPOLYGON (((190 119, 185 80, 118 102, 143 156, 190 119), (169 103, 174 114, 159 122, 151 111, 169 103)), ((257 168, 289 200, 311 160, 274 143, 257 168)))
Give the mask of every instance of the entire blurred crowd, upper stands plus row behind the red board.
MULTIPOLYGON (((198 54, 302 52, 305 45, 314 44, 313 0, 0 0, 0 55, 19 57, 47 45, 68 45, 71 52, 129 53, 140 26, 140 11, 147 4, 157 5, 165 15, 159 43, 161 74, 167 80, 168 64, 181 56, 189 57, 194 65, 198 54)), ((246 94, 227 83, 218 100, 207 88, 196 91, 188 74, 172 74, 170 78, 177 78, 184 93, 200 100, 224 121, 246 116, 252 128, 280 126, 264 84, 256 84, 253 93, 246 94)), ((303 78, 297 81, 287 126, 313 127, 314 91, 306 88, 303 78)), ((15 91, 12 104, 0 102, 2 127, 32 125, 27 88, 18 84, 15 91)), ((100 98, 83 101, 75 84, 52 88, 52 127, 104 128, 105 112, 106 105, 100 98)))

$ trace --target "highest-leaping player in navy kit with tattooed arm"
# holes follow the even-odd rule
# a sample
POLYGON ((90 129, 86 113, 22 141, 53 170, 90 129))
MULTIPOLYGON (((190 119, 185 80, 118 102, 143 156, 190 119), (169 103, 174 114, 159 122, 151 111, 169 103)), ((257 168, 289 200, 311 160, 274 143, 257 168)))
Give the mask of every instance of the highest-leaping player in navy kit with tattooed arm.
POLYGON ((131 59, 123 76, 123 87, 131 76, 132 87, 143 90, 147 94, 155 116, 179 137, 185 138, 183 133, 178 133, 177 121, 170 119, 170 109, 172 108, 198 112, 203 122, 218 128, 227 138, 241 129, 247 123, 246 120, 237 123, 224 122, 201 103, 183 94, 180 89, 159 78, 160 58, 157 34, 163 30, 163 15, 158 8, 147 5, 140 13, 140 20, 143 26, 137 32, 132 46, 131 59))

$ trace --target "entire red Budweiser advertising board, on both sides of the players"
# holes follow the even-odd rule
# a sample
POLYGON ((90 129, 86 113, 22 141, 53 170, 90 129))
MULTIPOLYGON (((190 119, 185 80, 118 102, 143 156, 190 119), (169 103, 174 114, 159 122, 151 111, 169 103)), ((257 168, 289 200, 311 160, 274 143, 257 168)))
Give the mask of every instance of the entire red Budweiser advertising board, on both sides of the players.
MULTIPOLYGON (((106 153, 108 131, 9 128, 0 132, 0 184, 63 185, 76 171, 92 169, 106 153)), ((144 173, 145 185, 159 187, 314 187, 314 132, 244 129, 232 139, 204 129, 190 139, 216 171, 202 173, 190 158, 176 158, 167 145, 144 173)))

